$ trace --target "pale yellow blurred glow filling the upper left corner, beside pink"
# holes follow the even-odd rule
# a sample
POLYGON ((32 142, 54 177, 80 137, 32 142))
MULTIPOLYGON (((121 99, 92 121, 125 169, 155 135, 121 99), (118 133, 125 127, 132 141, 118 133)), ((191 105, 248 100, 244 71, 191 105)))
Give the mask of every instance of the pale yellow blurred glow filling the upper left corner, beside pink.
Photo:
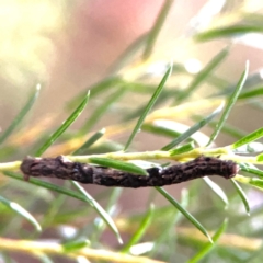
POLYGON ((0 1, 0 75, 14 85, 28 76, 46 76, 55 56, 52 34, 64 26, 61 3, 46 0, 0 1))

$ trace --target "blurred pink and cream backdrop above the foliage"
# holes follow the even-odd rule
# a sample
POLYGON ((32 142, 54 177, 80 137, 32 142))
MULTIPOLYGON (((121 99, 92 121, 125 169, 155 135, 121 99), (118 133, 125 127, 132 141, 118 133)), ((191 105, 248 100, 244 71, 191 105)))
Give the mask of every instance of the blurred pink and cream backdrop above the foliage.
MULTIPOLYGON (((10 117, 15 114, 36 81, 45 83, 37 110, 42 114, 60 111, 72 95, 108 76, 121 54, 153 26, 162 4, 161 0, 1 1, 1 111, 11 105, 5 112, 10 117)), ((262 9, 259 1, 190 0, 171 5, 151 60, 173 59, 187 66, 197 59, 197 65, 187 68, 194 71, 233 42, 225 38, 193 44, 194 32, 239 22, 242 13, 262 9)), ((253 37, 235 38, 218 76, 238 79, 247 59, 251 71, 261 68, 262 38, 253 37)), ((181 88, 188 79, 182 81, 181 88)), ((1 123, 4 128, 7 116, 1 116, 1 123)))

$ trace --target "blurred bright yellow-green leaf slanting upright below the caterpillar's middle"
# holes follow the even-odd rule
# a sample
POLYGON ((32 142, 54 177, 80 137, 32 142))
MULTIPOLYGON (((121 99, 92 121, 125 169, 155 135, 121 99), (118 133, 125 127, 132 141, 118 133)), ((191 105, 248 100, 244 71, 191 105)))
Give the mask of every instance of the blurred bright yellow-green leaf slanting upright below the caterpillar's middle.
POLYGON ((153 219, 153 205, 150 205, 150 208, 146 213, 145 217, 142 218, 142 221, 140 222, 139 228, 137 229, 137 231, 135 231, 135 233, 129 239, 127 244, 122 249, 123 253, 129 252, 130 248, 142 239, 147 229, 151 225, 152 219, 153 219))

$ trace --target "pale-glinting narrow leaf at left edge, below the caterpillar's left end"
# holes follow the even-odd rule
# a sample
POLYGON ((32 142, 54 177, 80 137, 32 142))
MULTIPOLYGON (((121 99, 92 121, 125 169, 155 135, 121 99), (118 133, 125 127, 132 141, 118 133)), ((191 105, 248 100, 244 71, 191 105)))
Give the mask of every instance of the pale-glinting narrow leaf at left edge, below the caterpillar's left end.
POLYGON ((41 232, 42 227, 41 225, 36 221, 36 219, 27 211, 25 210, 21 205, 18 203, 14 203, 12 201, 5 199, 4 197, 0 196, 0 202, 9 207, 11 210, 15 211, 23 218, 25 218, 27 221, 30 221, 36 229, 36 231, 41 232))

